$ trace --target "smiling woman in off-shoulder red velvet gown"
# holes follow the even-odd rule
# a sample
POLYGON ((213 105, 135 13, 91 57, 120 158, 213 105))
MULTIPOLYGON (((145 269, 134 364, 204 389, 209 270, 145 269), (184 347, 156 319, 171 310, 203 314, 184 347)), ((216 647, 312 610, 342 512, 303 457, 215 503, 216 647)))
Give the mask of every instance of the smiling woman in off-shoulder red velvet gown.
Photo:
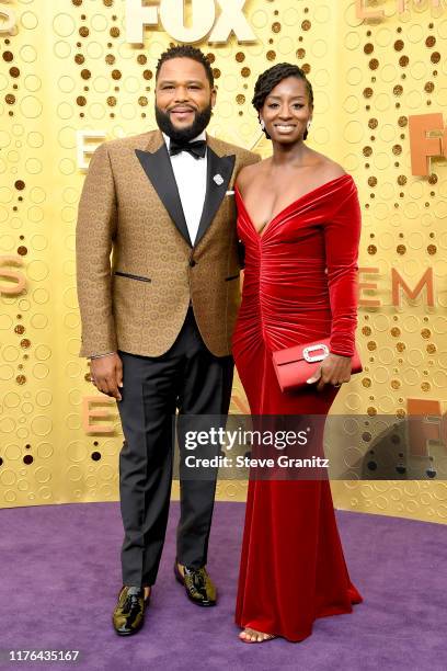
MULTIPOLYGON (((306 146, 313 94, 288 64, 257 80, 253 104, 273 156, 237 183, 245 247, 236 365, 251 412, 325 416, 349 380, 360 229, 353 179, 306 146), (272 352, 330 337, 330 354, 306 389, 283 394, 272 352)), ((299 641, 317 617, 349 613, 352 584, 328 480, 250 479, 236 622, 245 642, 299 641)))

